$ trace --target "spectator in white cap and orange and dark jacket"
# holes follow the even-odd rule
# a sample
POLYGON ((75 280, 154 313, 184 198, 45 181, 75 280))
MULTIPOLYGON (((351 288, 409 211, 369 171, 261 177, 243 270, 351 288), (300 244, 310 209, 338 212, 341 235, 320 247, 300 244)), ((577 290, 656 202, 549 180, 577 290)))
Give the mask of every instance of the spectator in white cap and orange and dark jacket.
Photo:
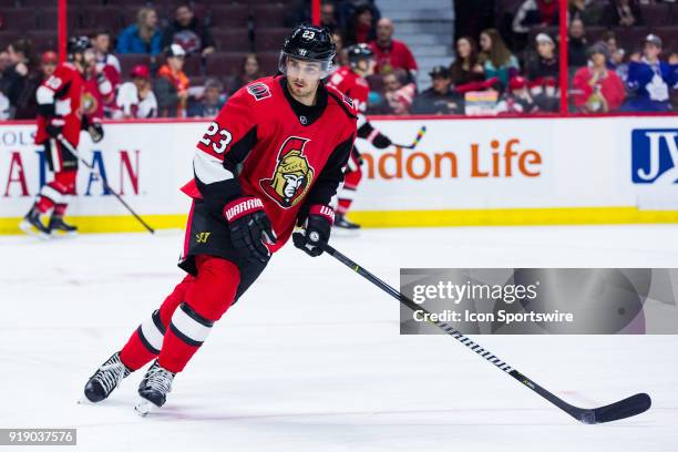
POLYGON ((166 63, 157 71, 155 97, 158 116, 185 117, 188 102, 188 78, 184 73, 186 52, 179 44, 172 44, 165 51, 166 63))

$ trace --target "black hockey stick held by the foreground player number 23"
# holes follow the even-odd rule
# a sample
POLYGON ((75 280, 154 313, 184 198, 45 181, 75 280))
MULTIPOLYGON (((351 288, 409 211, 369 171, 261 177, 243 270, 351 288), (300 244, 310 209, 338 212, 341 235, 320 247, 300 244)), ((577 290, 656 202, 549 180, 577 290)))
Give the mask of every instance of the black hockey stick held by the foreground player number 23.
MULTIPOLYGON (((299 234, 299 233, 295 233, 295 234, 299 234)), ((327 254, 329 254, 330 256, 332 256, 333 258, 336 258, 337 260, 339 260, 347 267, 351 268, 358 275, 362 276, 363 278, 366 278, 367 280, 369 280, 370 282, 372 282, 373 285, 376 285, 377 287, 379 287, 380 289, 382 289, 383 291, 386 291, 387 294, 396 298, 397 300, 399 300, 402 305, 407 306, 408 308, 412 310, 421 310, 424 314, 430 314, 427 309, 417 305, 410 298, 405 297, 404 295, 402 295, 401 292, 399 292, 398 290, 396 290, 394 288, 386 284, 381 279, 377 278, 374 275, 372 275, 364 268, 360 267, 358 264, 356 264, 355 261, 352 261, 351 259, 349 259, 341 253, 337 251, 330 245, 320 244, 319 246, 322 248, 323 251, 326 251, 327 254)), ((517 370, 513 369, 511 366, 508 366, 504 361, 500 360, 496 356, 491 353, 490 350, 484 349, 479 343, 472 341, 471 339, 469 339, 468 337, 465 337, 464 335, 462 335, 461 332, 452 328, 450 325, 444 323, 442 321, 430 321, 430 322, 435 325, 436 327, 442 329, 444 332, 446 332, 448 335, 452 336, 454 339, 456 339, 458 341, 466 346, 469 349, 475 351, 479 356, 485 358, 489 362, 502 369, 504 372, 506 372, 507 374, 510 374, 511 377, 513 377, 514 379, 523 383, 525 387, 532 389, 534 392, 542 396, 544 399, 548 400, 551 403, 558 407, 561 410, 565 411, 567 414, 572 415, 574 419, 576 419, 579 422, 593 424, 593 423, 616 421, 619 419, 630 418, 631 415, 640 414, 650 408, 651 401, 650 401, 649 396, 646 393, 638 393, 627 399, 619 400, 618 402, 615 402, 615 403, 612 403, 605 407, 593 408, 593 409, 585 409, 585 408, 578 408, 578 407, 571 405, 569 403, 565 402, 563 399, 558 398, 557 396, 542 388, 541 386, 538 386, 537 383, 535 383, 534 381, 532 381, 531 379, 528 379, 527 377, 525 377, 517 370)))

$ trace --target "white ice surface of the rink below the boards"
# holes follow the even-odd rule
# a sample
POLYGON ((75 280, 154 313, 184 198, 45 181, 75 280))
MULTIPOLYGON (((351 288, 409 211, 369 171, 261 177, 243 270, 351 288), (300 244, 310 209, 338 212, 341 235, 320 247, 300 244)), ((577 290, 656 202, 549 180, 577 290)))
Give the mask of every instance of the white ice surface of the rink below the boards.
MULTIPOLYGON (((677 235, 372 229, 333 245, 398 285, 400 267, 676 267, 677 235)), ((217 323, 162 411, 133 412, 141 372, 101 405, 76 404, 182 277, 181 245, 178 232, 0 238, 0 428, 78 428, 78 448, 64 451, 678 451, 678 336, 475 338, 575 404, 653 397, 643 415, 583 425, 449 337, 399 336, 397 301, 291 244, 217 323)))

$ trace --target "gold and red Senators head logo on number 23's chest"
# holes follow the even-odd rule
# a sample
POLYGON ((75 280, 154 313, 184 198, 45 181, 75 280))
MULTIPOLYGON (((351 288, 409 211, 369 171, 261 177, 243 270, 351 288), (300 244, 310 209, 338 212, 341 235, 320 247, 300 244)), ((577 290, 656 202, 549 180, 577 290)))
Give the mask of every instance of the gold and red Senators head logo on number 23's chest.
POLYGON ((290 136, 278 153, 278 164, 271 176, 259 181, 261 189, 281 207, 295 206, 314 182, 314 168, 304 155, 308 138, 290 136))

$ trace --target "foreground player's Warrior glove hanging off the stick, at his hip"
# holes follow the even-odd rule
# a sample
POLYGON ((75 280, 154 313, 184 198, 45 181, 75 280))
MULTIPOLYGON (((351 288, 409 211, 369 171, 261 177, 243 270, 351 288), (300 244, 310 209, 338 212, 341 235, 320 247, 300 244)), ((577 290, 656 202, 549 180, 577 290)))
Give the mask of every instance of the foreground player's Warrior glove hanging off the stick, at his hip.
POLYGON ((230 243, 238 254, 248 260, 266 263, 270 251, 264 240, 273 245, 278 238, 261 199, 253 196, 237 198, 224 207, 224 217, 228 222, 230 243))

